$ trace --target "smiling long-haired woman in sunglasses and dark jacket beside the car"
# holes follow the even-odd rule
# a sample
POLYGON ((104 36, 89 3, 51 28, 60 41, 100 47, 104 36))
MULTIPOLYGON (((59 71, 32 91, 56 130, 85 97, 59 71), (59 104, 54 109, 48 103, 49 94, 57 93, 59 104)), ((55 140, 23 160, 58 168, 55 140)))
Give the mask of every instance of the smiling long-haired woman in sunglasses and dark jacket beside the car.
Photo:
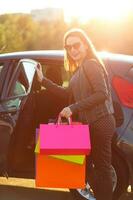
MULTIPOLYGON (((72 29, 64 36, 67 64, 73 72, 68 88, 57 86, 37 69, 38 80, 56 95, 69 99, 61 116, 77 114, 79 120, 90 125, 92 143, 91 186, 97 200, 112 199, 111 140, 115 130, 113 106, 107 71, 96 51, 80 29, 72 29)), ((87 168, 88 169, 88 168, 87 168)))

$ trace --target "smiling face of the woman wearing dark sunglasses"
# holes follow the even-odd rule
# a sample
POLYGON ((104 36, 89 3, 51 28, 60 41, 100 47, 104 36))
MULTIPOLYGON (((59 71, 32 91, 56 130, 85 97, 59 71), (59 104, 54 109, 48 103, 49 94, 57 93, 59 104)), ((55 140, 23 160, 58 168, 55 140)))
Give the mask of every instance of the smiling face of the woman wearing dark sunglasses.
POLYGON ((75 62, 82 62, 87 54, 87 45, 76 36, 68 36, 65 49, 75 62))

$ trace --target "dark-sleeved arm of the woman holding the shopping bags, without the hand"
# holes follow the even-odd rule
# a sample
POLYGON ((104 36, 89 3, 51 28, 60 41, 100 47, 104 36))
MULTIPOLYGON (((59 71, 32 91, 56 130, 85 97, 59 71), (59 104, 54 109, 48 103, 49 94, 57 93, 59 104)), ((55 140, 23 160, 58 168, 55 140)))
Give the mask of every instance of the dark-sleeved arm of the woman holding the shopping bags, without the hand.
MULTIPOLYGON (((83 100, 70 105, 69 108, 71 109, 72 113, 76 113, 85 109, 92 109, 94 106, 105 102, 105 100, 108 98, 108 89, 104 77, 104 71, 100 64, 96 61, 88 60, 84 63, 83 67, 84 73, 86 73, 86 76, 89 79, 88 82, 93 88, 93 93, 83 100)), ((82 87, 85 87, 85 85, 82 87)))

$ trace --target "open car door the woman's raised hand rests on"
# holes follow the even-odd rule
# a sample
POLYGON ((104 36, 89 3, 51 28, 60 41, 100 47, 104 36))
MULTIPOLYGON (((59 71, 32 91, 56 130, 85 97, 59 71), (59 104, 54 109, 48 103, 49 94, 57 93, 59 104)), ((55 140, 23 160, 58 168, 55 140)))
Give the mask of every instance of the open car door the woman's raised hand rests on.
POLYGON ((0 98, 0 175, 7 176, 6 162, 11 133, 30 94, 37 65, 33 60, 22 59, 7 70, 8 76, 5 76, 7 79, 0 98))

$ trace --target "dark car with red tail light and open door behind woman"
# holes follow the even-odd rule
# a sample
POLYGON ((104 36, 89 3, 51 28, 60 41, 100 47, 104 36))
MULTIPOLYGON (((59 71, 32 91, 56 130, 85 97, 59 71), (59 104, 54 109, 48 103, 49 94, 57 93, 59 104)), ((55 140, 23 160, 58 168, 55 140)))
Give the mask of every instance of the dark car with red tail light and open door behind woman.
MULTIPOLYGON (((133 189, 133 56, 99 52, 109 74, 116 119, 112 140, 113 199, 133 189)), ((64 87, 70 78, 62 50, 0 54, 0 173, 35 178, 35 129, 54 120, 67 104, 41 87, 38 64, 46 77, 64 87)), ((89 182, 71 190, 74 199, 95 199, 89 182)))

